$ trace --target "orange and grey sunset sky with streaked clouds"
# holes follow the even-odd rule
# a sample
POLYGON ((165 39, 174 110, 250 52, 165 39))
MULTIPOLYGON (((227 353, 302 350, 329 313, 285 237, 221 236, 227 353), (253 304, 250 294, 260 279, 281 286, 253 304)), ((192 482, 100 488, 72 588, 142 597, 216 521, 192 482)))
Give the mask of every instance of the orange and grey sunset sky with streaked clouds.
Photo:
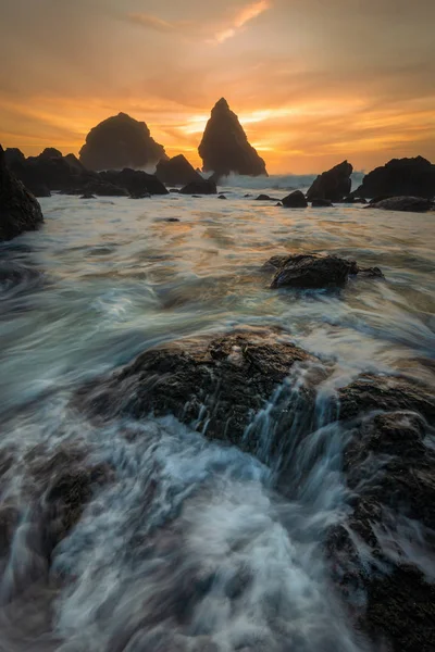
POLYGON ((0 0, 0 142, 120 111, 196 166, 225 97, 272 174, 435 162, 435 0, 0 0))

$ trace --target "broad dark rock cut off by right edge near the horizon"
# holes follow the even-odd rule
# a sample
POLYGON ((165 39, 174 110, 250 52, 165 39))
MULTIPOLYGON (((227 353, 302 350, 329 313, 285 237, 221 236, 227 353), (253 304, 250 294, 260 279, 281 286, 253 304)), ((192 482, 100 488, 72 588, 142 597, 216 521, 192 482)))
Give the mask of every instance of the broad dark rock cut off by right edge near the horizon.
POLYGON ((352 195, 365 199, 376 196, 432 199, 435 197, 435 165, 423 156, 393 159, 370 172, 352 195))

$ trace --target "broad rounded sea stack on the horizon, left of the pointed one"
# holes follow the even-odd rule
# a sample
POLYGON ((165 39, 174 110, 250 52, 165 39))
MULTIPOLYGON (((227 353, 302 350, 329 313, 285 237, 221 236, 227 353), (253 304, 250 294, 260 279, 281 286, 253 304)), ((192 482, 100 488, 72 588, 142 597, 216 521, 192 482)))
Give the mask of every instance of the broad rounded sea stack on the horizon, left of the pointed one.
POLYGON ((88 170, 146 167, 166 159, 164 148, 151 138, 144 122, 125 113, 108 117, 86 137, 79 154, 88 170))

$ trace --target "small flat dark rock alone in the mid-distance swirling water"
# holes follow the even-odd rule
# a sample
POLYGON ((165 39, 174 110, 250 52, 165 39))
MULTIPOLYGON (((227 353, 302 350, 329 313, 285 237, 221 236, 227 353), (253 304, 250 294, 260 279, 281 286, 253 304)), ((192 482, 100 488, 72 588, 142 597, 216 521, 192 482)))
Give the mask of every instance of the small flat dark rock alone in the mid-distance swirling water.
POLYGON ((355 261, 315 253, 275 255, 265 263, 265 268, 275 272, 271 288, 343 287, 349 276, 357 274, 365 277, 383 276, 378 267, 360 268, 355 261))

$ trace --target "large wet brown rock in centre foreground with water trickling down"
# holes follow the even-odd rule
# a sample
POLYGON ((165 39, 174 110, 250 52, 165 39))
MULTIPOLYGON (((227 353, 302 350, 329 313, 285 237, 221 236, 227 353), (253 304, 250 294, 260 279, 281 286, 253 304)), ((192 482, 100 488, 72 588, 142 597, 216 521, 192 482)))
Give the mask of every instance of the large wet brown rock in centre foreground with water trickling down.
MULTIPOLYGON (((111 377, 85 387, 76 403, 102 418, 174 414, 207 437, 254 451, 256 430, 244 439, 246 427, 294 365, 308 363, 319 361, 293 344, 285 334, 240 329, 146 351, 111 377)), ((313 401, 313 394, 302 388, 298 418, 308 419, 309 431, 313 412, 307 410, 304 400, 313 401)), ((291 392, 283 389, 271 421, 281 421, 289 428, 295 417, 289 410, 293 401, 291 392)), ((282 431, 275 429, 277 441, 282 431)))

